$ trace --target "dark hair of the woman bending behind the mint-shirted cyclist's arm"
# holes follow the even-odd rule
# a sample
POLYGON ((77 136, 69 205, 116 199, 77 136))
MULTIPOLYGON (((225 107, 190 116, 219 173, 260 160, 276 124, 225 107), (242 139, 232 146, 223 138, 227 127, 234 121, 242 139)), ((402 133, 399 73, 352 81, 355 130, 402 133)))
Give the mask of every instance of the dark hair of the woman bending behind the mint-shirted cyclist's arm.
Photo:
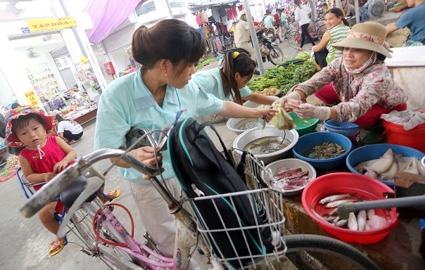
POLYGON ((224 59, 223 68, 220 70, 220 75, 223 79, 224 96, 229 96, 233 89, 235 95, 234 101, 242 105, 242 96, 235 75, 239 73, 241 77, 252 77, 255 66, 255 61, 250 58, 248 53, 239 53, 237 51, 227 53, 224 59))

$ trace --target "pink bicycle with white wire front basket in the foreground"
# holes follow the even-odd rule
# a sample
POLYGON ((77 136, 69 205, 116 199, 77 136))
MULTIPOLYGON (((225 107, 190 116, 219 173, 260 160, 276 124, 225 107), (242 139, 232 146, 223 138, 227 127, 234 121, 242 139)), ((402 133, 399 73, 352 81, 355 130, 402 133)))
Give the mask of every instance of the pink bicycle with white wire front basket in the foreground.
MULTIPOLYGON (((146 135, 148 133, 141 136, 139 140, 143 140, 146 135)), ((79 158, 75 164, 55 176, 44 185, 44 188, 32 195, 20 209, 20 212, 24 217, 32 217, 46 203, 60 195, 63 204, 68 207, 68 212, 65 214, 58 236, 65 236, 65 225, 71 221, 71 226, 75 226, 77 233, 80 234, 80 238, 86 245, 87 249, 83 251, 91 256, 103 259, 103 262, 111 269, 114 266, 118 267, 118 269, 186 269, 194 252, 193 248, 201 250, 203 254, 201 256, 209 259, 207 262, 199 261, 198 267, 200 269, 231 267, 229 265, 230 261, 239 262, 240 267, 238 268, 241 269, 249 269, 250 267, 265 269, 262 265, 271 269, 274 264, 279 263, 279 259, 283 255, 291 256, 293 262, 300 267, 304 264, 304 266, 311 266, 311 256, 314 255, 320 262, 326 262, 326 259, 331 258, 332 263, 327 269, 340 269, 341 265, 347 264, 359 267, 359 269, 379 269, 362 252, 334 238, 315 235, 281 235, 284 231, 285 222, 283 212, 284 197, 281 193, 265 186, 262 174, 268 172, 265 172, 264 164, 258 162, 253 155, 248 154, 248 157, 249 169, 247 176, 251 179, 250 186, 253 189, 239 193, 203 196, 177 202, 167 192, 166 188, 160 184, 156 176, 151 177, 151 183, 163 195, 164 200, 169 204, 170 212, 175 214, 177 218, 177 230, 179 233, 176 236, 176 252, 173 258, 160 255, 160 252, 152 250, 144 243, 134 239, 132 234, 128 233, 127 229, 122 226, 122 223, 113 214, 112 207, 117 204, 103 204, 94 195, 103 185, 104 176, 114 166, 114 164, 110 165, 106 172, 101 174, 92 167, 94 163, 101 160, 110 158, 114 158, 115 162, 124 160, 134 169, 147 175, 155 175, 158 172, 158 169, 146 167, 135 160, 125 150, 101 149, 79 158), (194 202, 211 200, 212 203, 215 203, 215 200, 229 198, 227 201, 235 207, 232 199, 241 195, 250 198, 251 210, 255 213, 262 213, 264 223, 257 222, 256 226, 250 228, 244 227, 242 224, 237 228, 223 227, 222 229, 210 229, 203 226, 202 214, 197 212, 194 202), (183 203, 188 203, 191 211, 196 213, 193 217, 184 210, 183 203), (263 252, 260 255, 253 253, 249 256, 236 256, 233 258, 222 257, 221 250, 211 252, 213 250, 214 233, 229 235, 230 231, 245 233, 247 229, 260 231, 260 229, 265 227, 274 232, 272 241, 274 248, 271 252, 263 252), (307 254, 306 252, 310 253, 307 254), (248 259, 250 264, 241 263, 242 260, 246 259, 248 259)), ((212 209, 211 211, 216 211, 218 216, 222 218, 219 210, 212 209)), ((234 214, 239 217, 237 211, 234 214)), ((236 255, 238 255, 240 245, 244 244, 231 242, 236 255)), ((215 245, 215 247, 217 246, 215 245)), ((315 259, 316 261, 317 259, 315 259)))

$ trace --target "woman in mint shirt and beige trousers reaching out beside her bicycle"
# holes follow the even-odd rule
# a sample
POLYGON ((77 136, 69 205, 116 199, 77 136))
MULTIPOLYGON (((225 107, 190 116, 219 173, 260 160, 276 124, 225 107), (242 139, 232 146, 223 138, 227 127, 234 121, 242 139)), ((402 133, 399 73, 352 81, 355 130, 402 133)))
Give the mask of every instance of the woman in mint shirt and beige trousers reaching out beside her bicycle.
MULTIPOLYGON (((238 24, 239 25, 239 24, 238 24)), ((235 35, 237 36, 238 25, 235 35)), ((133 127, 145 129, 171 128, 188 117, 216 113, 224 117, 257 118, 267 121, 274 109, 250 109, 230 101, 205 94, 191 81, 194 64, 205 53, 205 40, 198 30, 182 20, 161 20, 148 28, 135 30, 132 36, 132 56, 141 68, 137 72, 115 79, 103 91, 97 112, 94 149, 126 148, 125 135, 133 127)), ((156 134, 159 139, 160 134, 156 134)), ((148 166, 160 166, 163 185, 178 200, 181 188, 167 151, 143 146, 129 153, 148 166)), ((150 176, 118 162, 119 172, 129 181, 132 197, 149 236, 165 256, 175 251, 175 217, 167 203, 151 184, 150 176)))

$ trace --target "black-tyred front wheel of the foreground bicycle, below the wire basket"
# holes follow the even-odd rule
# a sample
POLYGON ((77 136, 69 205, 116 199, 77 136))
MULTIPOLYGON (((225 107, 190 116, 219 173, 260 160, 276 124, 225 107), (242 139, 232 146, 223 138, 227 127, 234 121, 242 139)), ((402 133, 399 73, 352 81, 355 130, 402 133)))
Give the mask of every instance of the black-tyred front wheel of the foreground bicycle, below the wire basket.
POLYGON ((298 269, 367 269, 379 267, 360 250, 326 236, 294 234, 283 236, 286 257, 298 269))

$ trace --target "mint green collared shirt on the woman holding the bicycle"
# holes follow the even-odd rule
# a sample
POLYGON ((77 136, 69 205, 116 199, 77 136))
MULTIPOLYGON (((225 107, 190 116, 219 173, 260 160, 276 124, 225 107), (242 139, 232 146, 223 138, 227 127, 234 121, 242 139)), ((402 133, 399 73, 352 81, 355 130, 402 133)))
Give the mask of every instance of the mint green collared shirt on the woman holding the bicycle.
MULTIPOLYGON (((179 118, 181 121, 195 115, 219 113, 222 108, 223 101, 220 98, 201 91, 194 82, 189 82, 183 89, 175 89, 168 85, 161 108, 142 82, 140 72, 134 72, 115 79, 101 94, 97 110, 94 150, 122 148, 125 146, 125 134, 131 127, 162 129, 165 125, 171 125, 175 122, 179 110, 184 110, 179 118)), ((165 169, 163 177, 170 179, 175 176, 170 157, 167 151, 163 151, 162 155, 165 169)), ((133 168, 120 167, 118 170, 129 181, 139 184, 150 183, 143 180, 141 173, 133 168)))

